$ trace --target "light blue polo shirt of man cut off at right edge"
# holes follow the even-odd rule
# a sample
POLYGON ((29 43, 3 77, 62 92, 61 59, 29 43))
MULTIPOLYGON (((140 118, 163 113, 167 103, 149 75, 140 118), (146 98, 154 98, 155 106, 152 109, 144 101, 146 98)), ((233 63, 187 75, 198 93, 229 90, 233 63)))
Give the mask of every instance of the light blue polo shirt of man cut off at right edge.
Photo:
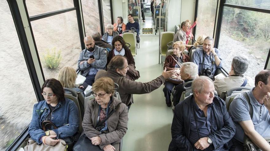
POLYGON ((252 119, 249 115, 249 104, 244 95, 239 94, 230 104, 229 112, 234 121, 236 132, 234 138, 239 142, 244 142, 244 130, 238 123, 240 121, 252 120, 255 130, 262 136, 270 136, 270 115, 264 104, 260 104, 253 95, 253 90, 248 93, 250 104, 253 110, 252 119))

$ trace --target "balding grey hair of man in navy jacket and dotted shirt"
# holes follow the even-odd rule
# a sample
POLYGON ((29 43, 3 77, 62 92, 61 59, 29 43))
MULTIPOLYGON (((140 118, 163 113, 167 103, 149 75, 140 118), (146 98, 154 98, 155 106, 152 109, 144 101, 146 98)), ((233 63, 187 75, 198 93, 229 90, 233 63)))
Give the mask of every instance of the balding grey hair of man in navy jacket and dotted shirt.
POLYGON ((195 90, 201 93, 203 91, 204 85, 206 84, 206 81, 214 84, 213 81, 209 77, 206 77, 206 76, 197 77, 191 84, 193 94, 195 90))

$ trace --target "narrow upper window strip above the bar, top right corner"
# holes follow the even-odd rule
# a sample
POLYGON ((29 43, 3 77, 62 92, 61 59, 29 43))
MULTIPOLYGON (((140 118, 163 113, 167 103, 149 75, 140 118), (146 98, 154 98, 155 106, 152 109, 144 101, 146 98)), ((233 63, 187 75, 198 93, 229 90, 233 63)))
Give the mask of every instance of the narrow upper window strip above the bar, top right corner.
POLYGON ((226 3, 237 4, 237 5, 245 5, 252 7, 260 7, 260 8, 270 8, 269 0, 226 0, 226 3))

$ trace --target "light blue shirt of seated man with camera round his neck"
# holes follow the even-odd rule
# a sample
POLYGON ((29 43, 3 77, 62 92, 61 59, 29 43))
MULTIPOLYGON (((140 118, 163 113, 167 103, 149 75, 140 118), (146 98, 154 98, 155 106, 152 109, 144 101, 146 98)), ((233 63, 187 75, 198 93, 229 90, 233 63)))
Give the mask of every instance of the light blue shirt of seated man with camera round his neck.
POLYGON ((220 58, 220 53, 219 53, 218 49, 216 49, 216 48, 213 48, 213 49, 216 52, 216 54, 218 55, 218 58, 220 59, 219 66, 216 66, 215 57, 213 56, 212 53, 210 53, 210 55, 207 55, 207 53, 203 51, 203 48, 198 48, 195 50, 193 57, 191 58, 191 62, 198 65, 199 75, 202 74, 202 67, 204 69, 213 68, 213 70, 211 72, 212 74, 215 74, 217 68, 222 67, 222 59, 220 58), (204 55, 204 63, 203 63, 203 53, 205 54, 204 55))

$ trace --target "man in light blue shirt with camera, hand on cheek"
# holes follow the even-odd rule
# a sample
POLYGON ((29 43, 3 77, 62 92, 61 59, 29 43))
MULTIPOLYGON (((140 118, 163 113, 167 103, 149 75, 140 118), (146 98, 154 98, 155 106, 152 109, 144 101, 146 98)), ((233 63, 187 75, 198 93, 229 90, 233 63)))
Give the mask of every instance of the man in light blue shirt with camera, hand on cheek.
POLYGON ((217 68, 222 67, 222 59, 218 49, 213 48, 214 39, 206 37, 203 41, 203 48, 195 50, 191 62, 199 67, 199 75, 207 76, 213 79, 217 68))

